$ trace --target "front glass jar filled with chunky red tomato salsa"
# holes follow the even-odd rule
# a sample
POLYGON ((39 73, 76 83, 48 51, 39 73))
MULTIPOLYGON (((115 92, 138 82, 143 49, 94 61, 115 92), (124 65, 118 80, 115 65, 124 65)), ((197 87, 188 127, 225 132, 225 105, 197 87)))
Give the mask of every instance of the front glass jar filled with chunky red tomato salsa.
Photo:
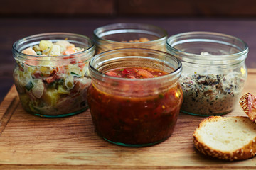
POLYGON ((144 147, 171 136, 183 101, 181 62, 166 52, 119 49, 90 61, 87 100, 100 137, 144 147))

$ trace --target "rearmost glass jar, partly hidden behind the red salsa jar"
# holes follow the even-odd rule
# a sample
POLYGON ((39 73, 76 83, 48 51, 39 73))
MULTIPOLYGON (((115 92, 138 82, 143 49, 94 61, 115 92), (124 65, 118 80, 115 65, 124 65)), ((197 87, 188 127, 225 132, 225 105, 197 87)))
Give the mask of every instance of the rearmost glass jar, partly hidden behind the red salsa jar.
POLYGON ((94 30, 96 53, 119 48, 147 48, 166 52, 166 30, 142 23, 114 23, 94 30))

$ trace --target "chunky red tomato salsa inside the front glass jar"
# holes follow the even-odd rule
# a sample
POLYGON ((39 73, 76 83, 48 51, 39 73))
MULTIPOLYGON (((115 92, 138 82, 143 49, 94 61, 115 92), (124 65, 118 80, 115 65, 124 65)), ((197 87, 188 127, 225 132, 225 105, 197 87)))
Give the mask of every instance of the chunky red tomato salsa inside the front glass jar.
MULTIPOLYGON (((131 79, 148 78, 148 73, 141 75, 136 71, 138 69, 142 68, 114 69, 106 74, 131 79)), ((146 70, 153 77, 166 74, 156 69, 142 70, 146 70)), ((87 98, 98 135, 119 145, 146 146, 171 136, 183 95, 179 84, 170 85, 161 94, 142 97, 109 94, 91 84, 87 98)))

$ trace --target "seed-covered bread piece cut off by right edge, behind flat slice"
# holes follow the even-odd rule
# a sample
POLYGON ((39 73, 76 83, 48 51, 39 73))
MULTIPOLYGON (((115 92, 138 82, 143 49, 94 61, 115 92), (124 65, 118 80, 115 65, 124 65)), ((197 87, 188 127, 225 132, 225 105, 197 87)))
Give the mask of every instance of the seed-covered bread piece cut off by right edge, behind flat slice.
POLYGON ((250 120, 256 123, 256 97, 250 93, 244 94, 240 98, 239 103, 242 110, 249 116, 250 120))

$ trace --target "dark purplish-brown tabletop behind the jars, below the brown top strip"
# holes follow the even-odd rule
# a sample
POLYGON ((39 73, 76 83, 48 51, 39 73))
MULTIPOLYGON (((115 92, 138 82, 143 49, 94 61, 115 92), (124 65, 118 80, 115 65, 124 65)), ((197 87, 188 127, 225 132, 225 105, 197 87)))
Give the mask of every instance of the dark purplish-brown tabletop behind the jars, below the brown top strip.
POLYGON ((13 84, 13 43, 28 35, 70 32, 92 38, 95 28, 110 23, 149 23, 167 30, 169 35, 188 31, 213 31, 241 38, 249 46, 247 67, 256 68, 256 19, 250 18, 0 18, 0 102, 13 84))

